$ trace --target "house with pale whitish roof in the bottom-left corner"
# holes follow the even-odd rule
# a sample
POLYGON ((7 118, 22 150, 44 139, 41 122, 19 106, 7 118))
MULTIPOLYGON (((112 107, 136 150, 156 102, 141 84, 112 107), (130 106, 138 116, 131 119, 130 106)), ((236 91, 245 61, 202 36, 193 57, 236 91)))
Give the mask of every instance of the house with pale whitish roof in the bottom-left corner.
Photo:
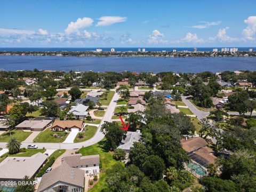
POLYGON ((0 181, 21 181, 26 175, 33 178, 47 158, 42 153, 31 157, 6 157, 0 163, 0 181))

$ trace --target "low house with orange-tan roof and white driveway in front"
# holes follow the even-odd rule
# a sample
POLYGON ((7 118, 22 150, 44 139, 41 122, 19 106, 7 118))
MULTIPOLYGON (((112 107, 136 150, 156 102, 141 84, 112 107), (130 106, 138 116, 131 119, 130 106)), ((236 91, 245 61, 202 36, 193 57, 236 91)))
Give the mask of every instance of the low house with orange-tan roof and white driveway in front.
POLYGON ((51 130, 52 131, 81 131, 84 127, 83 121, 72 121, 72 120, 66 120, 66 121, 60 121, 60 120, 55 120, 51 130))

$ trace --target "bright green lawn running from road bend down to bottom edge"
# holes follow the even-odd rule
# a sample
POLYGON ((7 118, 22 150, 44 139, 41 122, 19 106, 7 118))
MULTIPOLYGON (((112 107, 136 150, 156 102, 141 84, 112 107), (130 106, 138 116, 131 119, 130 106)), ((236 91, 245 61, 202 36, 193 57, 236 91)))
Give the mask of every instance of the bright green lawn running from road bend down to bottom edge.
POLYGON ((117 163, 117 161, 112 157, 113 153, 107 151, 105 145, 105 140, 102 140, 95 145, 79 149, 79 153, 81 153, 83 156, 97 154, 100 155, 100 164, 102 165, 100 180, 95 186, 93 186, 93 188, 90 189, 90 192, 98 192, 101 191, 103 188, 108 187, 105 181, 107 177, 106 170, 110 169, 117 163))

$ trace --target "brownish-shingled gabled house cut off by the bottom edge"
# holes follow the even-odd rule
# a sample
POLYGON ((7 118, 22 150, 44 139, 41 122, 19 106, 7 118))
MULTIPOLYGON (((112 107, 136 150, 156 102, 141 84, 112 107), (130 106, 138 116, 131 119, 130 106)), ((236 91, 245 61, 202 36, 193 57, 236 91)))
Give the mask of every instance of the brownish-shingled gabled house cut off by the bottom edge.
POLYGON ((43 175, 37 192, 83 192, 84 186, 84 170, 70 167, 66 162, 63 162, 60 166, 43 175))

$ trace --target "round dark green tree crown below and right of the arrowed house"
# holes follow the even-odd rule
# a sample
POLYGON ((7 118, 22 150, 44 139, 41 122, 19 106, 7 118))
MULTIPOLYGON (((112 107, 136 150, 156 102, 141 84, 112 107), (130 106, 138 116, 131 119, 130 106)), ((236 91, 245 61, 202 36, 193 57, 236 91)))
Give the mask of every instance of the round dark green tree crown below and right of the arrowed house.
POLYGON ((162 158, 156 155, 146 157, 145 162, 142 164, 142 171, 152 180, 159 180, 163 176, 165 164, 162 158))

